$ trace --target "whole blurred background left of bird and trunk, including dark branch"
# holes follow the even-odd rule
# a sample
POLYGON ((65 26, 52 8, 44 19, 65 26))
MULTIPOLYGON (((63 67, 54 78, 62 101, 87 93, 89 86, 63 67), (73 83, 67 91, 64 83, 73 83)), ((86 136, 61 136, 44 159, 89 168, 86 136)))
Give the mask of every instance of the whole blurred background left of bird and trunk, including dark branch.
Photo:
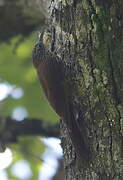
POLYGON ((63 180, 59 117, 32 64, 49 6, 43 0, 0 0, 0 143, 7 146, 0 153, 1 180, 63 180))

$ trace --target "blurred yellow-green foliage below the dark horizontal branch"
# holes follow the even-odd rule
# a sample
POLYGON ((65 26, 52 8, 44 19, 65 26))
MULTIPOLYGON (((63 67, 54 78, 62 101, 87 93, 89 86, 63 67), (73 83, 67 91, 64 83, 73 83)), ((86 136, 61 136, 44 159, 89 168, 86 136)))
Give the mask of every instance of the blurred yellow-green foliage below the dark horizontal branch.
POLYGON ((9 177, 11 177, 12 180, 17 178, 12 174, 11 170, 20 160, 25 160, 29 163, 32 171, 31 179, 37 180, 42 166, 41 154, 45 148, 41 140, 38 137, 21 137, 19 138, 18 144, 11 145, 10 148, 13 150, 13 163, 7 169, 9 177))

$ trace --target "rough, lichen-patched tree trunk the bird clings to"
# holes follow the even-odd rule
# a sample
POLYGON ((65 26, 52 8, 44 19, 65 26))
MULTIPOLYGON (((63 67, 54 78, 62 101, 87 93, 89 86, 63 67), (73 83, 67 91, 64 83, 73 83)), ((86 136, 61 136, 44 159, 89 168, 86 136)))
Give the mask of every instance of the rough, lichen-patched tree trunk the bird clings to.
POLYGON ((66 180, 121 180, 122 0, 62 0, 51 7, 55 53, 72 64, 65 88, 73 117, 61 121, 66 180))

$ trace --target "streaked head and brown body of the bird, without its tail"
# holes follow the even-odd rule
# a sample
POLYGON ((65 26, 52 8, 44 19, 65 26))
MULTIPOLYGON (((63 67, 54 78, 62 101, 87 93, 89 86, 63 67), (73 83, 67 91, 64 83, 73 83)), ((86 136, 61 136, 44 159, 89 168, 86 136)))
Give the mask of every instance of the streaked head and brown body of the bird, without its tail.
POLYGON ((64 64, 58 57, 48 52, 42 43, 34 49, 33 63, 48 101, 56 113, 64 118, 66 111, 64 64))

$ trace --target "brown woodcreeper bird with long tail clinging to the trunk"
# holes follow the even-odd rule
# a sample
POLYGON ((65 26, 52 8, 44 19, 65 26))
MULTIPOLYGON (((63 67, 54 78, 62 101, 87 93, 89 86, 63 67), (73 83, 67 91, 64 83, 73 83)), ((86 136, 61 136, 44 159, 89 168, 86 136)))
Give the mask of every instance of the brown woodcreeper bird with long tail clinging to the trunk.
MULTIPOLYGON (((68 128, 68 133, 74 144, 76 153, 82 158, 89 158, 89 149, 82 136, 79 124, 77 124, 78 115, 74 108, 71 98, 71 88, 66 78, 66 72, 71 71, 71 63, 66 63, 63 59, 49 50, 49 45, 44 41, 43 36, 35 45, 33 50, 33 64, 44 90, 44 93, 55 112, 60 116, 68 128)), ((70 76, 70 74, 69 74, 70 76)))

